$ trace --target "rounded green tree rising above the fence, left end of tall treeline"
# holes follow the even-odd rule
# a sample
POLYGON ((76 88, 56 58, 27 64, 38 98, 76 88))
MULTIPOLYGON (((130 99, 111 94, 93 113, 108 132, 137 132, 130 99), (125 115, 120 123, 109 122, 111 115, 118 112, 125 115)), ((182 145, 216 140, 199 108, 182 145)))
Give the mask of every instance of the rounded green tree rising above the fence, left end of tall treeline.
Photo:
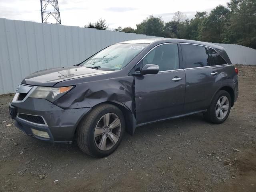
POLYGON ((140 24, 137 24, 137 34, 162 36, 164 34, 164 21, 161 17, 150 15, 140 24))

